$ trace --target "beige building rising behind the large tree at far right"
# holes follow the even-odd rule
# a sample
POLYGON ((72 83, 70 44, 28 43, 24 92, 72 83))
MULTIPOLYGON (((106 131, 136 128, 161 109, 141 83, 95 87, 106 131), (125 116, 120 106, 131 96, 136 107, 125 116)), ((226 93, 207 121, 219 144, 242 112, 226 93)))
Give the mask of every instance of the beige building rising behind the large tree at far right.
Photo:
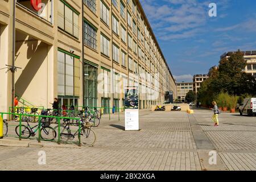
MULTIPOLYGON (((246 60, 246 67, 244 71, 247 74, 250 74, 254 77, 256 77, 256 51, 241 51, 243 53, 243 58, 246 60)), ((236 52, 226 52, 223 55, 221 55, 220 59, 229 58, 232 53, 236 52)))

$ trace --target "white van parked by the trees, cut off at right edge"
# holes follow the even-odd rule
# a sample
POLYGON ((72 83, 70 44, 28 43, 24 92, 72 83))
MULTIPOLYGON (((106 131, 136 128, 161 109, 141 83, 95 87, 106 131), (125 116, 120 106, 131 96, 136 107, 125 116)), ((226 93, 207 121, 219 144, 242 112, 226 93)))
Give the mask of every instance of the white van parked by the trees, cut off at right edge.
POLYGON ((239 107, 239 112, 240 115, 247 114, 248 116, 256 114, 256 98, 245 98, 239 107))

